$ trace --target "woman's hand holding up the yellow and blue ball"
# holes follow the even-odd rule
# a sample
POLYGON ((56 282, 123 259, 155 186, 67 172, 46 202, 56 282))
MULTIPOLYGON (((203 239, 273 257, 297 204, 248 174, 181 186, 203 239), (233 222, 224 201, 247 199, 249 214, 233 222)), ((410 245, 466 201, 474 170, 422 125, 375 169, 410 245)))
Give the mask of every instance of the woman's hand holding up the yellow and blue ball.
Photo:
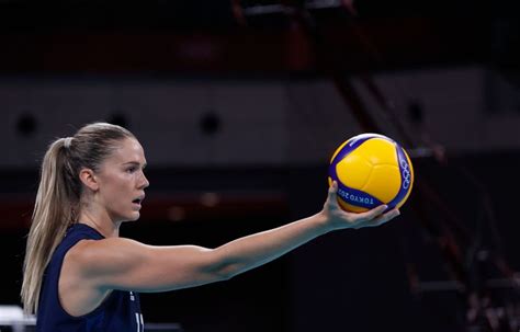
POLYGON ((399 215, 399 210, 394 208, 386 214, 383 211, 387 208, 386 205, 377 206, 365 213, 354 214, 348 213, 339 206, 338 197, 338 183, 332 182, 329 188, 327 201, 325 202, 324 209, 320 211, 325 218, 325 222, 331 229, 343 229, 343 228, 363 228, 374 227, 383 225, 399 215))

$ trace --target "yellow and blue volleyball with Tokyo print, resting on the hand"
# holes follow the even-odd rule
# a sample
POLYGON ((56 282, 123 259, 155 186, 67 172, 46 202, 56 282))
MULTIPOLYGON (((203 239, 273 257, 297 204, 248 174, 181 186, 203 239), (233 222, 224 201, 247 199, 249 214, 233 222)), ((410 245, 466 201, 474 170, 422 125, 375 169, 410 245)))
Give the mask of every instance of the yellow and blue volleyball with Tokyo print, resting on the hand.
POLYGON ((414 184, 408 153, 395 140, 378 134, 361 134, 341 144, 334 152, 329 185, 338 183, 342 209, 362 213, 380 205, 387 210, 405 204, 414 184))

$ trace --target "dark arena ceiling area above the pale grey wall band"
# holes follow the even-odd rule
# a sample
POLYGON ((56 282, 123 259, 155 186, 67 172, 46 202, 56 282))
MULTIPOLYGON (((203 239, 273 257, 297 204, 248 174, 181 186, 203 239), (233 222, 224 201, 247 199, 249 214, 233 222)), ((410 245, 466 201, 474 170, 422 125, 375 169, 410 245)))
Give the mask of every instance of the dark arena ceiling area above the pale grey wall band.
POLYGON ((515 5, 509 0, 4 0, 0 70, 314 75, 467 62, 517 66, 515 5))

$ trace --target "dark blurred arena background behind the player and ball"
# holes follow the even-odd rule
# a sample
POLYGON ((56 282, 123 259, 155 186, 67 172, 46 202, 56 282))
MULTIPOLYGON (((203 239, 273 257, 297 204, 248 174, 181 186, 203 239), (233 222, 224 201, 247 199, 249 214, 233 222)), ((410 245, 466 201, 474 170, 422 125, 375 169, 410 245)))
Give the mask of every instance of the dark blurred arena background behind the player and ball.
POLYGON ((519 24, 512 0, 1 0, 0 305, 43 153, 86 123, 147 154, 123 236, 206 247, 316 213, 335 148, 377 131, 416 169, 398 219, 143 295, 148 331, 518 332, 519 24))

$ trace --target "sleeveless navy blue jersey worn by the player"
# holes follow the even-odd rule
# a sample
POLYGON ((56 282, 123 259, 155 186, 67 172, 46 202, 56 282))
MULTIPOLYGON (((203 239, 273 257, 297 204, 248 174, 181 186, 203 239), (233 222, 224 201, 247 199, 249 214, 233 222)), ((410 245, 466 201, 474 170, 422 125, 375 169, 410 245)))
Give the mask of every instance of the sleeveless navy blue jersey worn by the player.
POLYGON ((139 296, 133 291, 112 290, 93 311, 74 317, 68 314, 58 299, 58 279, 67 251, 80 240, 101 240, 95 229, 76 224, 71 226, 47 265, 39 294, 36 320, 37 332, 118 332, 144 331, 139 296))

